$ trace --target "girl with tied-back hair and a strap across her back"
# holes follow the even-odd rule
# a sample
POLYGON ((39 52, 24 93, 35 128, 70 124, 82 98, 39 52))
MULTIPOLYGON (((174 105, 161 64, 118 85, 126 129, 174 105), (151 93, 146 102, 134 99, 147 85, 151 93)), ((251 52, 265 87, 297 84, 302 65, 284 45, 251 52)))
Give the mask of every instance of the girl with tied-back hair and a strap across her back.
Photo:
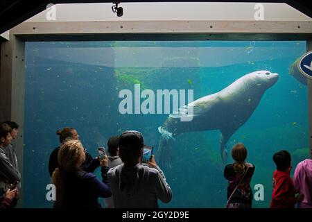
POLYGON ((227 164, 224 177, 227 185, 227 208, 252 207, 252 189, 250 180, 254 174, 254 165, 245 162, 247 149, 243 144, 236 144, 232 148, 233 164, 227 164))

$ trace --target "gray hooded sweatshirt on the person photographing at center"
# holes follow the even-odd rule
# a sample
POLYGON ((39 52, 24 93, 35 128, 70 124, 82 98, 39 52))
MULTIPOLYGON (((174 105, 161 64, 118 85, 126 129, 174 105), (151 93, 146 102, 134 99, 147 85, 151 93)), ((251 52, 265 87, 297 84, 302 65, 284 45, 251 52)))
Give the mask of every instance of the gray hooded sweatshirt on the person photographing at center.
POLYGON ((157 199, 168 203, 172 198, 171 188, 159 167, 121 164, 108 171, 108 181, 114 206, 118 208, 157 208, 157 199))

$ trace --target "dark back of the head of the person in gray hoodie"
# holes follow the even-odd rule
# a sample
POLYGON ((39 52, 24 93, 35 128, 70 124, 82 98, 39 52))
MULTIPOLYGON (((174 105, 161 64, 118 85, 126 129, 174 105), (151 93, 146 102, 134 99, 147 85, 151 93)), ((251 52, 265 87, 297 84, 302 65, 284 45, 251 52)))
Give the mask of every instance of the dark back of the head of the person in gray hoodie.
POLYGON ((143 135, 135 130, 125 131, 119 137, 119 156, 125 164, 132 164, 141 155, 143 135))

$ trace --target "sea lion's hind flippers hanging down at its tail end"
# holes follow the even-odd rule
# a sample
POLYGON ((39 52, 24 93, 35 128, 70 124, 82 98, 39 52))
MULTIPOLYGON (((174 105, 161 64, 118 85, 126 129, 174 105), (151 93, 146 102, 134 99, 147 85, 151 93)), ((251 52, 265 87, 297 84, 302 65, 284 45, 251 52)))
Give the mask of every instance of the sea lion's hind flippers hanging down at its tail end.
POLYGON ((162 128, 162 126, 159 126, 158 131, 162 134, 160 135, 158 144, 159 166, 171 168, 171 142, 174 138, 172 133, 162 128))

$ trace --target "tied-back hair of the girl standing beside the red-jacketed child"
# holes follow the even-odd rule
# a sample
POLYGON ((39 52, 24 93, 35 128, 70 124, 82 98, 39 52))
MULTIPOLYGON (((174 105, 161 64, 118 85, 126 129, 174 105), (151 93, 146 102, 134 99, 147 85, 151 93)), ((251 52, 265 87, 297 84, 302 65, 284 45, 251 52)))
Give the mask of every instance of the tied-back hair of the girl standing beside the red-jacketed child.
POLYGON ((232 157, 234 162, 234 172, 239 176, 245 171, 245 160, 247 157, 247 149, 244 144, 236 144, 232 148, 232 157))

